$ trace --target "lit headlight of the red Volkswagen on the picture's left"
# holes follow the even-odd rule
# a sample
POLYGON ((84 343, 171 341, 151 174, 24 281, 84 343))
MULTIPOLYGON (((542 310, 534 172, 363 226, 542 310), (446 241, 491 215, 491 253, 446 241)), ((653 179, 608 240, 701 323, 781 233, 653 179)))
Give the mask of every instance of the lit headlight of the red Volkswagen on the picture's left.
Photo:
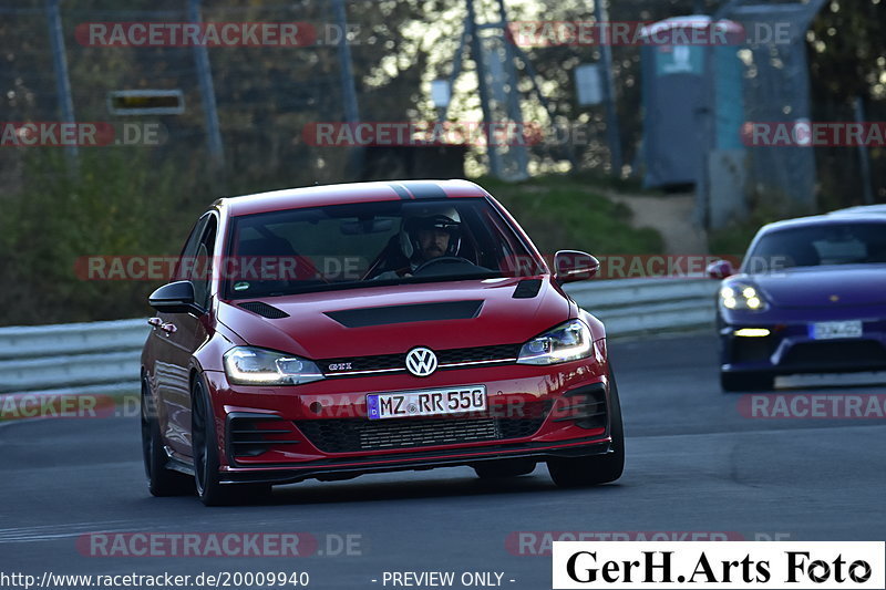
POLYGON ((227 351, 225 373, 235 385, 300 385, 323 379, 312 361, 254 346, 227 351))

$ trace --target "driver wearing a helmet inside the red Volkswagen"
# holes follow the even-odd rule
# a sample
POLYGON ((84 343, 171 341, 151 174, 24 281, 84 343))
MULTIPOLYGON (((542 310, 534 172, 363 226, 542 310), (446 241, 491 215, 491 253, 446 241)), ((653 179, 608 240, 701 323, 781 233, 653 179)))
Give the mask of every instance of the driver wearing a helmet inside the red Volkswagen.
POLYGON ((434 258, 457 256, 462 242, 461 225, 462 219, 455 207, 427 207, 404 218, 399 241, 400 252, 408 265, 375 278, 411 277, 416 268, 434 258))

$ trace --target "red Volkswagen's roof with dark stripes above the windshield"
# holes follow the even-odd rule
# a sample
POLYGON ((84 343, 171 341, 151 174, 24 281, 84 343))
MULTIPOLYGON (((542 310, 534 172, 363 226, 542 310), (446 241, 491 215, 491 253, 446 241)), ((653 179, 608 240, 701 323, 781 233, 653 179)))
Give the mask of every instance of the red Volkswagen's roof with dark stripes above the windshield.
POLYGON ((468 180, 383 180, 287 188, 239 197, 225 197, 215 205, 233 217, 303 207, 322 207, 373 200, 488 197, 468 180))

